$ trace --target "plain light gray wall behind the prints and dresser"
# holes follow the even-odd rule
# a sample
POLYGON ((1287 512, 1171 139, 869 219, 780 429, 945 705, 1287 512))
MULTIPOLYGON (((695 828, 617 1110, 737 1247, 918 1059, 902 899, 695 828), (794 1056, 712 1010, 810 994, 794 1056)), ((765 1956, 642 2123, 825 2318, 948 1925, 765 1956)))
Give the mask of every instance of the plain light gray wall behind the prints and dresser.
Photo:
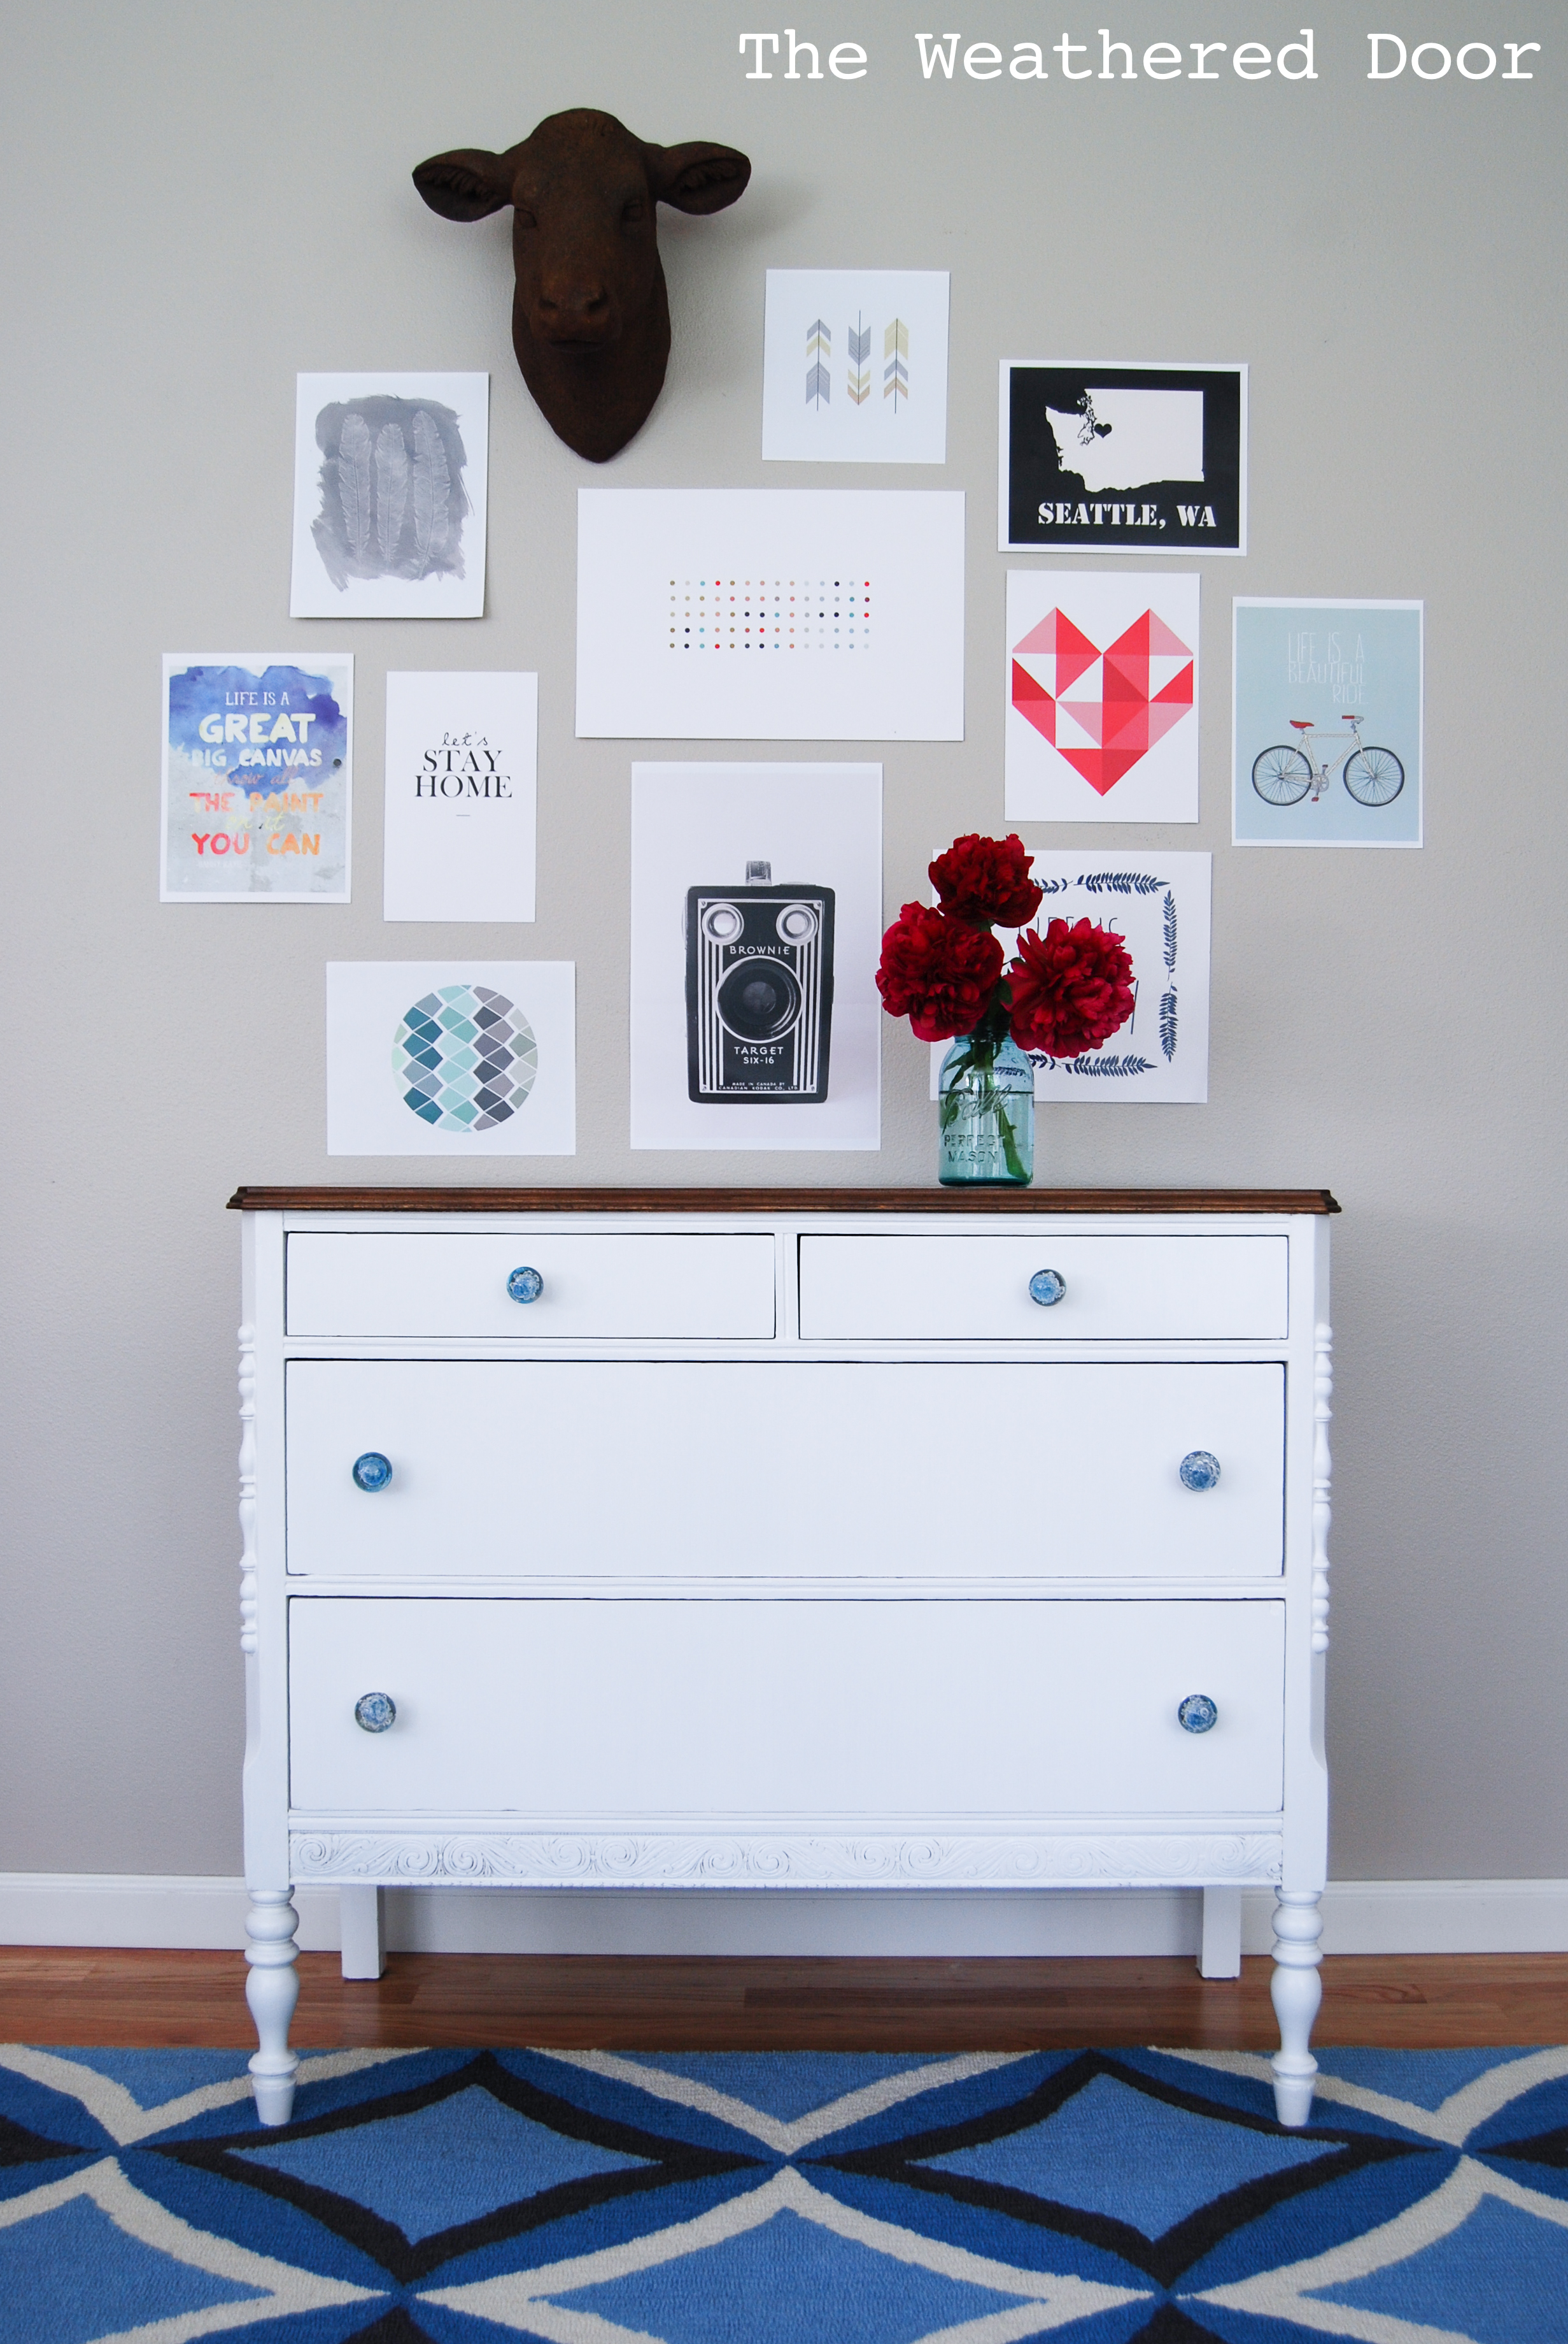
MULTIPOLYGON (((1303 12, 1118 0, 1113 33, 1277 47, 1303 12)), ((574 490, 968 490, 968 738, 886 748, 895 909, 933 841, 1003 827, 996 359, 1034 354, 1249 359, 1254 546, 1205 565, 1202 825, 1027 830, 1214 849, 1209 1104, 1050 1106, 1041 1177, 1334 1186, 1334 1871, 1568 1875, 1561 21, 1535 12, 1533 82, 1369 87, 1359 9, 1310 14, 1313 84, 1073 89, 1055 59, 921 82, 916 26, 1059 38, 1013 0, 802 21, 870 47, 855 84, 743 80, 766 16, 715 0, 12 14, 0 1866, 239 1866, 237 1181, 930 1179, 926 1052, 891 1024, 881 1156, 628 1151, 628 766, 680 748, 572 738, 574 490), (450 227, 408 183, 574 103, 755 159, 734 211, 666 220, 675 361, 605 473, 516 375, 509 220, 450 227), (952 270, 945 473, 764 471, 769 263, 952 270), (483 621, 286 616, 293 377, 347 366, 492 370, 483 621), (1425 851, 1228 846, 1233 593, 1427 598, 1425 851), (356 652, 352 907, 157 902, 159 654, 234 645, 356 652), (382 675, 410 666, 539 670, 532 928, 382 926, 382 675), (577 961, 577 1160, 328 1163, 323 961, 436 952, 577 961)))

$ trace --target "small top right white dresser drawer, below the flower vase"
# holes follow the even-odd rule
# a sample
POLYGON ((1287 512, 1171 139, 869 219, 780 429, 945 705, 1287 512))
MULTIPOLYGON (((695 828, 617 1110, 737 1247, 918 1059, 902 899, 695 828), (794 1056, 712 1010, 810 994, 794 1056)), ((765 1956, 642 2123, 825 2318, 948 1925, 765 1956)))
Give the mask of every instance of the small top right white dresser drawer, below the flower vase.
POLYGON ((1200 1341, 1287 1334, 1287 1238, 930 1231, 804 1235, 799 1331, 825 1341, 1200 1341), (1057 1270, 1041 1306, 1029 1280, 1057 1270))

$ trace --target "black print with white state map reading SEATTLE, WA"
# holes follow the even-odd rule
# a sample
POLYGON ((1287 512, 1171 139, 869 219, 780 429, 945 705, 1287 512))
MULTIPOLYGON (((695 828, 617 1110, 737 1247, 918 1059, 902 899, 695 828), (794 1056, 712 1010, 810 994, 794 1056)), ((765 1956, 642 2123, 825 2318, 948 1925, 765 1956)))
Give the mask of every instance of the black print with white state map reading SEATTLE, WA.
POLYGON ((1245 553, 1247 368, 1001 361, 1003 553, 1245 553))

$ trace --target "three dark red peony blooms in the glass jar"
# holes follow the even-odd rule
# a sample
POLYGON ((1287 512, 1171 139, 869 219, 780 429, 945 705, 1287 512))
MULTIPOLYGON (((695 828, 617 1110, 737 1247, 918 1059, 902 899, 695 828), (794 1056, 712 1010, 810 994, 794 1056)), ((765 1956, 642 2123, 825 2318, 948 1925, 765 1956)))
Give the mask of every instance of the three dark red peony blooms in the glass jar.
POLYGON ((1010 1031, 1020 1050, 1078 1057, 1132 1017, 1132 956, 1120 935, 1088 919, 1052 919, 1045 935, 1024 928, 1043 900, 1031 860, 1015 837, 954 839, 930 865, 938 909, 907 902, 884 935, 881 1006, 907 1017, 921 1041, 989 1024, 1010 1031), (1024 928, 1005 968, 994 926, 1024 928))

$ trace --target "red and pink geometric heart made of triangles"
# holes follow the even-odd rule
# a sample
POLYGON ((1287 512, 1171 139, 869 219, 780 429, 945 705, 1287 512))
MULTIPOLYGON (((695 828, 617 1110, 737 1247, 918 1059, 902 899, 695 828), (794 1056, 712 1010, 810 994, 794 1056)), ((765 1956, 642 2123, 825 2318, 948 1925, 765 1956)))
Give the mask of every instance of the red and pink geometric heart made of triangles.
POLYGON ((1013 706, 1104 797, 1193 706, 1193 654, 1146 609, 1106 652, 1062 609, 1013 645, 1013 706))

